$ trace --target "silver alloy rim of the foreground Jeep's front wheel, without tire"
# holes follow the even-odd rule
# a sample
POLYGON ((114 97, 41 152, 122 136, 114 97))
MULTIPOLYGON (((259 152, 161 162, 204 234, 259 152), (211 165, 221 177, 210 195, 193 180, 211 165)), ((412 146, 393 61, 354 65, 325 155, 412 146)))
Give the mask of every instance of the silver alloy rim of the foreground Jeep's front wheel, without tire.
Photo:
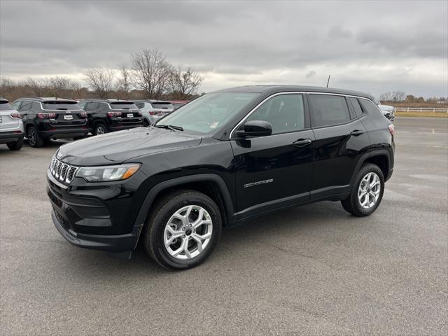
POLYGON ((169 255, 189 260, 200 255, 209 245, 213 223, 206 209, 188 205, 177 210, 165 225, 163 242, 169 255))

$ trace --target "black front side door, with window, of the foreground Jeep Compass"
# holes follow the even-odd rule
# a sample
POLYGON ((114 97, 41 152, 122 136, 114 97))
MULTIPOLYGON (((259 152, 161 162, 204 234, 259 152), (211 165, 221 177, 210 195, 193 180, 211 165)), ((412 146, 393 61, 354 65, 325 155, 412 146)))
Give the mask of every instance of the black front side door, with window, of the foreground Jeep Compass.
POLYGON ((267 99, 244 123, 265 120, 272 135, 231 141, 241 216, 309 200, 314 134, 306 105, 302 94, 267 99))

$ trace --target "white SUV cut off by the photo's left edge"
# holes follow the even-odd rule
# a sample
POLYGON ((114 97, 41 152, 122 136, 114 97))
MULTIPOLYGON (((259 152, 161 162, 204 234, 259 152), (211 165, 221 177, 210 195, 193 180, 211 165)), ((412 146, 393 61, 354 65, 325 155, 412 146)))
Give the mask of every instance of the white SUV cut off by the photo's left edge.
POLYGON ((11 151, 22 148, 25 130, 22 116, 6 99, 0 97, 0 144, 6 144, 11 151))

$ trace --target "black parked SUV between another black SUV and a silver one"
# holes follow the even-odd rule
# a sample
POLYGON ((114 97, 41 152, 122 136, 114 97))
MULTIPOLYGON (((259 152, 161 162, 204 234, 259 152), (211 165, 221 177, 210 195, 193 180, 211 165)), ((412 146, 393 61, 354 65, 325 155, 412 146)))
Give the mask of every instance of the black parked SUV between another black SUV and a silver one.
POLYGON ((94 135, 143 126, 141 111, 128 100, 86 99, 79 103, 87 112, 94 135))

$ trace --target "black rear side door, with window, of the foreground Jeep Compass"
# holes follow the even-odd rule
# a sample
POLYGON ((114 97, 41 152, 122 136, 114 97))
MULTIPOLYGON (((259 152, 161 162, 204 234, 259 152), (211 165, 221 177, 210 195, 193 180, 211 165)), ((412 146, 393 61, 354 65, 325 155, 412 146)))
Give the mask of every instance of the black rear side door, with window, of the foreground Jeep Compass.
POLYGON ((346 193, 360 157, 370 141, 363 123, 337 94, 308 94, 314 136, 311 200, 346 193))

